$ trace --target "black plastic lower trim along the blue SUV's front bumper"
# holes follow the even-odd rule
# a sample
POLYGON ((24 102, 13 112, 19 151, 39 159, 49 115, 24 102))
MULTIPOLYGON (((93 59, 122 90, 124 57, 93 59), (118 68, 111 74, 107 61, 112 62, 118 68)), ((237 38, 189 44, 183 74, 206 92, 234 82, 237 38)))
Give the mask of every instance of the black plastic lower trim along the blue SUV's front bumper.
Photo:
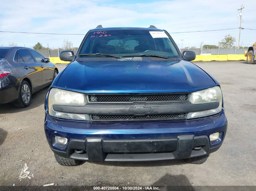
POLYGON ((217 151, 221 143, 210 148, 206 135, 137 140, 86 138, 71 139, 67 152, 51 149, 55 154, 81 161, 159 161, 206 155, 217 151), (77 153, 77 150, 83 152, 77 153))

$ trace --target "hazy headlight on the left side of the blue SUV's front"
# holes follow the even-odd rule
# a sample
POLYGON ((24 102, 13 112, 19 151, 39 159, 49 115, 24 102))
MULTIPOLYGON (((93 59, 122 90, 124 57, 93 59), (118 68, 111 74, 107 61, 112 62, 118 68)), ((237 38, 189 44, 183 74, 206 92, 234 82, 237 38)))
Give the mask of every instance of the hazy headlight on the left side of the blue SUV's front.
POLYGON ((48 98, 48 110, 49 114, 54 117, 88 121, 89 115, 58 112, 52 108, 53 105, 85 106, 86 103, 85 94, 52 88, 48 98))

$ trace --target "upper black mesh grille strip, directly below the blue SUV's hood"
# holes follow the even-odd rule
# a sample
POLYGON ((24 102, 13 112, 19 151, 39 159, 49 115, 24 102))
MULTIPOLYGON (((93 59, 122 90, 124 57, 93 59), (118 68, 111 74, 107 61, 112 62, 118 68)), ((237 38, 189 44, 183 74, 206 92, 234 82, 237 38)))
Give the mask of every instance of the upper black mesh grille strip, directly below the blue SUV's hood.
POLYGON ((188 94, 89 95, 90 102, 186 101, 188 94))

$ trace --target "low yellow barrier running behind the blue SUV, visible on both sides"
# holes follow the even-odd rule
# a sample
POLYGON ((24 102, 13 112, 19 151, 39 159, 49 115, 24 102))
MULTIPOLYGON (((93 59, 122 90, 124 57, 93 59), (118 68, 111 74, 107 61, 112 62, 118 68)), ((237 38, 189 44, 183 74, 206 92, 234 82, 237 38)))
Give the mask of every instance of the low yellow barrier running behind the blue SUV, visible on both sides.
MULTIPOLYGON (((246 60, 243 54, 224 54, 224 55, 196 55, 193 61, 228 61, 228 60, 246 60)), ((68 64, 59 57, 50 57, 50 61, 55 64, 68 64)))

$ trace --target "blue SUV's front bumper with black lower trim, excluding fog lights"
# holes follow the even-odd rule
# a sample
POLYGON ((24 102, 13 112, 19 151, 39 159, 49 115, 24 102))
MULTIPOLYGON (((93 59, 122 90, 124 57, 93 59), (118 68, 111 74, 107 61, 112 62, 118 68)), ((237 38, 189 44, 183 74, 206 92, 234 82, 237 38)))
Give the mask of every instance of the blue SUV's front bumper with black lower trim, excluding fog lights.
POLYGON ((156 161, 206 155, 220 148, 227 130, 224 110, 190 120, 82 122, 45 116, 45 134, 52 151, 84 161, 156 161), (220 137, 210 141, 212 133, 220 137), (68 138, 59 145, 54 137, 68 138))

